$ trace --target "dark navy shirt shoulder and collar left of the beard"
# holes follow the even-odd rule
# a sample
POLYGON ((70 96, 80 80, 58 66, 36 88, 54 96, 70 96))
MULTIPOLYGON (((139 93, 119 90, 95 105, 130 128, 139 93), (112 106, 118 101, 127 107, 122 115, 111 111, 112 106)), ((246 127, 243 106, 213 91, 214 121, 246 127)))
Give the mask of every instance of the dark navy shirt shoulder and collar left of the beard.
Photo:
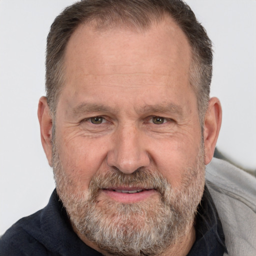
POLYGON ((73 231, 56 190, 48 204, 21 218, 0 238, 1 256, 101 255, 73 231))

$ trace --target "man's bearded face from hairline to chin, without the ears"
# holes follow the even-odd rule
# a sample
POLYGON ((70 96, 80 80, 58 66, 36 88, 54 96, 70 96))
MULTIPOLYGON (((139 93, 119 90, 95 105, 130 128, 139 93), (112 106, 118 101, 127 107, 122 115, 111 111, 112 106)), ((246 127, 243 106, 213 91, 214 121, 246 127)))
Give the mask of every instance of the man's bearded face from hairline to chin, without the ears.
POLYGON ((97 239, 106 237, 89 229, 111 230, 114 240, 143 229, 157 244, 168 225, 169 244, 191 228, 204 165, 190 61, 169 19, 143 32, 80 25, 67 44, 54 120, 57 192, 75 230, 103 249, 97 239))

